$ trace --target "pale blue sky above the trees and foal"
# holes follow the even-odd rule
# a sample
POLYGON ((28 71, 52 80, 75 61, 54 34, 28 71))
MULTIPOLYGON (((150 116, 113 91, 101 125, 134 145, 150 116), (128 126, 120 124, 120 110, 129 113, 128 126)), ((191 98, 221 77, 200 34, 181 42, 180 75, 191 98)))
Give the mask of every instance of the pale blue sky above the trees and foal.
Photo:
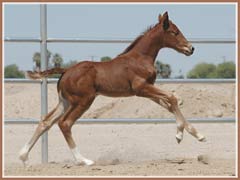
MULTIPOLYGON (((49 38, 135 39, 168 11, 169 18, 187 39, 235 39, 235 4, 48 4, 49 38)), ((39 38, 39 4, 5 4, 4 37, 39 38)), ((114 58, 129 44, 49 43, 48 49, 70 60, 95 61, 103 56, 114 58)), ((236 61, 235 44, 193 44, 195 52, 185 56, 162 49, 157 60, 171 65, 172 77, 184 74, 201 62, 218 64, 236 61)), ((4 64, 17 64, 32 70, 32 56, 40 51, 38 43, 5 43, 4 64)))

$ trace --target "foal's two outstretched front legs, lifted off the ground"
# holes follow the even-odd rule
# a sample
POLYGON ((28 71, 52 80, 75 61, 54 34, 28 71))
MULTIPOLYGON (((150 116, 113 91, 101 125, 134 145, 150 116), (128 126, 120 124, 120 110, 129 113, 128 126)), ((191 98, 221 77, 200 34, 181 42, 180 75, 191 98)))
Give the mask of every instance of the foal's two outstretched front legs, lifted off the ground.
POLYGON ((136 89, 137 96, 147 97, 158 103, 159 105, 163 106, 175 115, 177 122, 176 139, 178 143, 180 143, 183 139, 184 128, 187 130, 188 133, 196 137, 199 141, 206 140, 205 137, 199 132, 197 132, 197 130, 184 118, 178 107, 177 98, 174 95, 162 91, 153 86, 152 84, 143 84, 138 87, 139 88, 136 89))

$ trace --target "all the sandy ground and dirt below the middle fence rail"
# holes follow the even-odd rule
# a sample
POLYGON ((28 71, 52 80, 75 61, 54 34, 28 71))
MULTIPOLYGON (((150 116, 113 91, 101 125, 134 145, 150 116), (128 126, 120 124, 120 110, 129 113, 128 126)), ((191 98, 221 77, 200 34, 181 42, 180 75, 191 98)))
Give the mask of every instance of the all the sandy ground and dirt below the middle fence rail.
MULTIPOLYGON (((234 84, 163 84, 181 102, 185 117, 234 117, 234 84)), ((5 84, 5 118, 40 117, 40 85, 5 84)), ((57 104, 56 85, 49 85, 49 110, 57 104)), ((99 96, 83 118, 171 118, 165 109, 144 98, 99 96)), ((5 176, 235 176, 235 123, 194 123, 206 137, 200 143, 185 133, 175 140, 176 124, 75 125, 81 153, 95 165, 76 166, 55 125, 49 131, 49 163, 41 164, 41 141, 30 153, 29 167, 18 152, 36 125, 4 126, 5 176), (198 161, 204 155, 207 164, 198 161)), ((205 162, 204 161, 204 162, 205 162)))

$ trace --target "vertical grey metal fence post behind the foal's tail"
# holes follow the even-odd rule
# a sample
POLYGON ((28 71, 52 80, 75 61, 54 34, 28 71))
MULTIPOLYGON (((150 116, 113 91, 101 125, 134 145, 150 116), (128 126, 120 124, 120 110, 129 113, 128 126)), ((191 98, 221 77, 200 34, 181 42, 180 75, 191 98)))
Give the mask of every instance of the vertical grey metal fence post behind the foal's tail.
MULTIPOLYGON (((41 29, 41 71, 47 69, 47 5, 40 5, 40 29, 41 29)), ((47 79, 41 84, 41 117, 48 111, 47 104, 47 79)), ((42 135, 42 163, 48 162, 48 134, 42 135)))

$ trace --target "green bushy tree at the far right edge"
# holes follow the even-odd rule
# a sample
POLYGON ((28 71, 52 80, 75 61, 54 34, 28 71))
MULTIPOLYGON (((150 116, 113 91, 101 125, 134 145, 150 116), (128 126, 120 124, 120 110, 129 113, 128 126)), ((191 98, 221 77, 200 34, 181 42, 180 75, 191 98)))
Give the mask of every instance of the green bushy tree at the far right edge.
POLYGON ((228 61, 218 64, 216 74, 218 78, 235 78, 236 76, 235 63, 232 61, 228 61))

